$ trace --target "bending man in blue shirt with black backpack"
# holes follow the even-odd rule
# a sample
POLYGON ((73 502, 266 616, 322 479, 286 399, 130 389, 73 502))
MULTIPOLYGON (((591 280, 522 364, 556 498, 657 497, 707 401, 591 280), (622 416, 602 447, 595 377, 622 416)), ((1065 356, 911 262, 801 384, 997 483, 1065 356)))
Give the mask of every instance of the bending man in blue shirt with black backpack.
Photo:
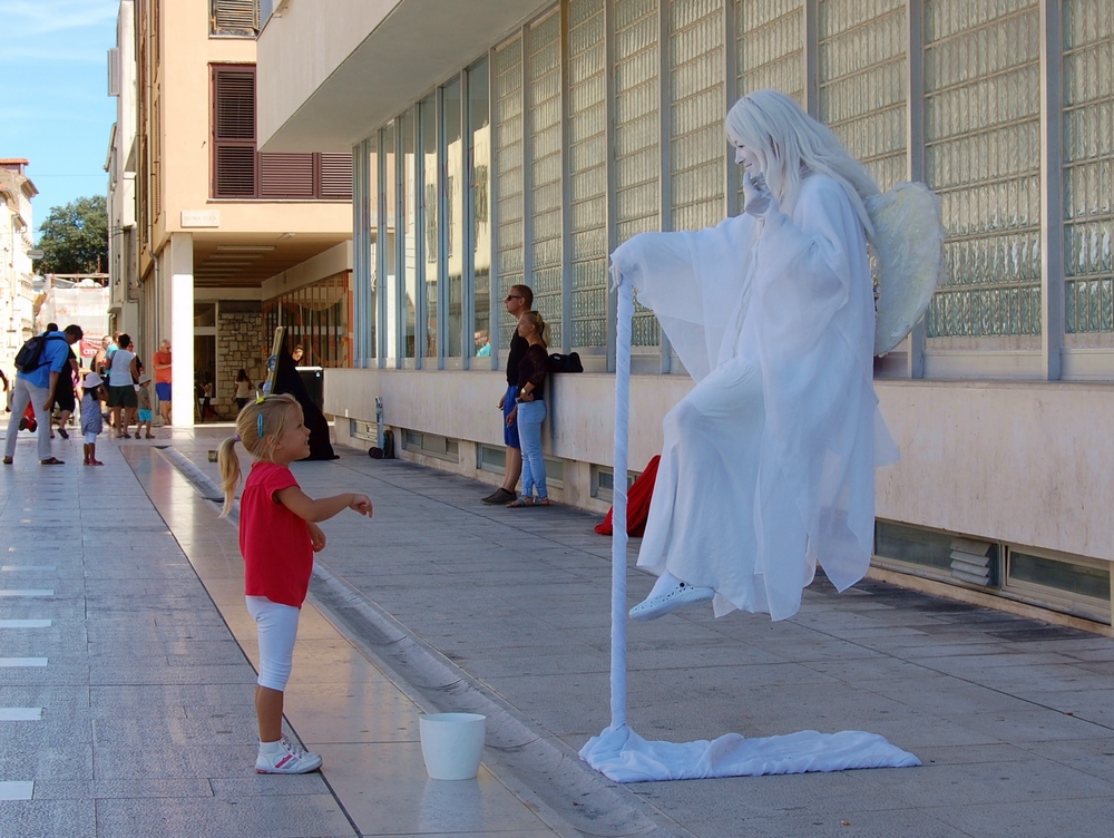
POLYGON ((55 403, 58 377, 70 374, 70 347, 81 340, 79 325, 68 325, 61 332, 45 332, 31 338, 16 355, 16 383, 12 388, 11 418, 4 440, 3 465, 10 466, 16 456, 19 419, 30 403, 39 423, 39 464, 62 466, 62 460, 50 454, 50 409, 55 403))

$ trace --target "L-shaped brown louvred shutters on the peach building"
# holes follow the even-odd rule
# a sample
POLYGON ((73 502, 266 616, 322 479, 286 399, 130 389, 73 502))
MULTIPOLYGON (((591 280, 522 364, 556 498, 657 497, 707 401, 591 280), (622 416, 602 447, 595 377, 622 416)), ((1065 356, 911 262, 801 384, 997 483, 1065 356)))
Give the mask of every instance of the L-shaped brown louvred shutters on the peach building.
POLYGON ((213 197, 352 199, 352 155, 256 150, 255 65, 213 65, 211 99, 213 197))

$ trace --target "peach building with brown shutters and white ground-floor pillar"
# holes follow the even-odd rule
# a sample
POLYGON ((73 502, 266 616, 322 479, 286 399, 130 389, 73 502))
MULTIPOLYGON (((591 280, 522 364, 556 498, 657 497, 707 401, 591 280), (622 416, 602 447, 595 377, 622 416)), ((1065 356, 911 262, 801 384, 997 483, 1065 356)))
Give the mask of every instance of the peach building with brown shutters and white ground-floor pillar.
MULTIPOLYGON (((194 422, 204 379, 232 416, 236 372, 261 379, 275 325, 304 344, 306 363, 351 364, 351 149, 260 153, 258 1, 126 0, 120 19, 114 160, 121 204, 134 174, 135 226, 121 212, 113 235, 121 261, 135 252, 140 354, 163 338, 173 345, 174 425, 194 422), (134 137, 121 127, 133 119, 125 64, 134 137)), ((120 283, 125 312, 123 272, 120 283)))

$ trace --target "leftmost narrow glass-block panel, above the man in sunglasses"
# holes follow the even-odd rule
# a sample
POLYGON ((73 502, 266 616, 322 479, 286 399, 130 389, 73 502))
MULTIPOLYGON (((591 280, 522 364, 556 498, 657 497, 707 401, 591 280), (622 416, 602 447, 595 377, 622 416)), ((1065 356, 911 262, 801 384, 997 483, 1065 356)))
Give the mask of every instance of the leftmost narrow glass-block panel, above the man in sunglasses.
MULTIPOLYGON (((498 299, 507 296, 511 285, 522 282, 525 224, 522 206, 522 39, 496 50, 491 72, 495 110, 496 167, 496 271, 498 299)), ((498 343, 506 347, 515 321, 507 316, 501 302, 496 303, 499 324, 498 343)))

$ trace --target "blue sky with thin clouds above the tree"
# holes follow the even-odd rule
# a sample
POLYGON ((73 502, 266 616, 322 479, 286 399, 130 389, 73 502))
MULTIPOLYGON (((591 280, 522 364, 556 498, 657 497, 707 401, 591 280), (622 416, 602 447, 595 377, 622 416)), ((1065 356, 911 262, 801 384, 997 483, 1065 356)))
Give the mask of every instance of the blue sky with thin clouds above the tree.
POLYGON ((104 195, 116 99, 108 50, 115 0, 0 0, 0 157, 26 157, 39 194, 35 237, 51 207, 104 195))

